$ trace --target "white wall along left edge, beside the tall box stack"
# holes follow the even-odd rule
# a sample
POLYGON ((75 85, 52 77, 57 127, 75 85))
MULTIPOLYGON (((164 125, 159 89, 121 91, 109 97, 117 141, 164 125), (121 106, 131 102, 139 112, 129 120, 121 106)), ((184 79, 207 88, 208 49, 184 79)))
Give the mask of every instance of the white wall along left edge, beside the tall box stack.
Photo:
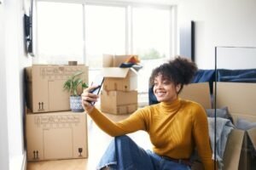
MULTIPOLYGON (((24 76, 26 65, 31 65, 32 59, 26 56, 23 42, 23 1, 8 0, 3 2, 3 31, 1 34, 1 119, 3 116, 4 129, 2 144, 5 162, 1 162, 0 169, 19 170, 26 162, 24 146, 24 76), (2 36, 4 37, 2 39, 2 36), (2 68, 3 66, 3 68, 2 68), (2 71, 2 69, 4 69, 2 71), (2 76, 3 73, 3 76, 2 76), (2 97, 2 96, 1 96, 2 97), (2 103, 3 101, 3 103, 2 103), (3 107, 3 110, 2 110, 3 107), (6 134, 7 133, 7 134, 6 134)), ((2 29, 1 29, 2 30, 2 29)), ((2 120, 1 120, 2 121, 2 120)), ((2 154, 2 150, 1 150, 2 154)), ((2 157, 1 157, 1 161, 2 157)))

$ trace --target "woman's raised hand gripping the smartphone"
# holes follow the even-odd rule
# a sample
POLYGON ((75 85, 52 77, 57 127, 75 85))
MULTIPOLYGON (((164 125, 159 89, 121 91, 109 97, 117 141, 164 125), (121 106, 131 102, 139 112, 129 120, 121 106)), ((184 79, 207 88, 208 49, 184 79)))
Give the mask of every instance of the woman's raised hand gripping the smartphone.
POLYGON ((90 93, 91 90, 94 88, 97 88, 97 86, 91 86, 89 88, 85 88, 83 94, 81 94, 82 97, 82 105, 84 108, 84 111, 87 113, 90 113, 94 105, 91 105, 91 102, 96 102, 99 96, 97 94, 90 93))

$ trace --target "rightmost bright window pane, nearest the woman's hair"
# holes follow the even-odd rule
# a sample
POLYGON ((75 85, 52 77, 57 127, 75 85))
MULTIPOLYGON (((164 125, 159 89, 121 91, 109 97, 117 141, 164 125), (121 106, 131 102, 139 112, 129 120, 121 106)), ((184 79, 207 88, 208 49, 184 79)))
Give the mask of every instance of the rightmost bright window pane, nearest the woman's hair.
POLYGON ((133 54, 142 59, 138 91, 148 92, 148 79, 152 69, 170 58, 169 9, 132 8, 133 54))

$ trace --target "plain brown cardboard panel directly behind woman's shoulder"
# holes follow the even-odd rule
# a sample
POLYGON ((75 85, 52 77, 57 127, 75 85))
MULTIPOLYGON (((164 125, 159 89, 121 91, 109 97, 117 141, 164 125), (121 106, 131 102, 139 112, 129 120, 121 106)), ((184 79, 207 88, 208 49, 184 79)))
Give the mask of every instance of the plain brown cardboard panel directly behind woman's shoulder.
POLYGON ((190 83, 183 87, 179 96, 182 99, 189 99, 201 104, 205 109, 212 108, 210 88, 208 82, 190 83))

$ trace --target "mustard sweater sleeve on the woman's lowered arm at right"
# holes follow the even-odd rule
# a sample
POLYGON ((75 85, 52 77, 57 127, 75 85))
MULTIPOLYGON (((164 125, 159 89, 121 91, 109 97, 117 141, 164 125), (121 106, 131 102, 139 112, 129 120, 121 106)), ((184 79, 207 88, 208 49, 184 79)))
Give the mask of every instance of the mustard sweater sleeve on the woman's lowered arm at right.
POLYGON ((210 145, 210 137, 208 132, 207 114, 205 110, 199 106, 196 108, 194 116, 193 134, 198 154, 205 169, 213 170, 214 164, 212 160, 212 149, 210 145))

